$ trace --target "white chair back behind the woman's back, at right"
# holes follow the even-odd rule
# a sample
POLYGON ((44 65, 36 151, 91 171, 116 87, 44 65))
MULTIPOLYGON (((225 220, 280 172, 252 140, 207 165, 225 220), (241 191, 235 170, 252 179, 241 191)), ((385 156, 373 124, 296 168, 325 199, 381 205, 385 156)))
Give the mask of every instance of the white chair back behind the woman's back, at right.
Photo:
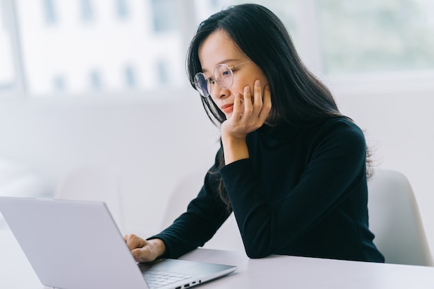
POLYGON ((368 182, 370 229, 386 263, 433 265, 419 209, 408 179, 376 170, 368 182))

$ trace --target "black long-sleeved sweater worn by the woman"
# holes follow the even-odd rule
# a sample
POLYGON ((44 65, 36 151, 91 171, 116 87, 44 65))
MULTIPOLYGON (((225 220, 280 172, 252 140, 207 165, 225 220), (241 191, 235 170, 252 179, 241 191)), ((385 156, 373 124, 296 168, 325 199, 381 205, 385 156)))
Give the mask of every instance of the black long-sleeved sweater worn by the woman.
MULTIPOLYGON (((231 211, 251 258, 270 254, 384 262, 368 229, 366 144, 347 119, 309 128, 263 125, 247 137, 250 158, 205 177, 198 197, 173 225, 151 238, 177 258, 204 245, 231 211)), ((213 173, 214 172, 214 173, 213 173)))

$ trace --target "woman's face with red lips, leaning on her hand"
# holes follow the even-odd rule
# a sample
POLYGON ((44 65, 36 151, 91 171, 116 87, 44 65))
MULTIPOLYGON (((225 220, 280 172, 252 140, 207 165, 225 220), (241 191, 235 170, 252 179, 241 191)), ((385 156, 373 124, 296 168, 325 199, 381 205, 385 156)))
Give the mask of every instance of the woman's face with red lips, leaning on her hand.
MULTIPOLYGON (((220 110, 226 115, 226 119, 232 116, 234 97, 236 94, 243 96, 246 86, 253 91, 255 80, 261 81, 261 87, 268 84, 264 73, 257 64, 249 61, 249 58, 234 44, 224 30, 216 30, 211 33, 199 47, 198 51, 202 72, 207 77, 213 77, 214 67, 218 64, 226 64, 228 67, 241 64, 234 69, 234 82, 229 89, 222 89, 216 83, 211 83, 211 98, 220 110)), ((241 97, 243 99, 243 97, 241 97)), ((243 106, 242 106, 243 107, 243 106)))

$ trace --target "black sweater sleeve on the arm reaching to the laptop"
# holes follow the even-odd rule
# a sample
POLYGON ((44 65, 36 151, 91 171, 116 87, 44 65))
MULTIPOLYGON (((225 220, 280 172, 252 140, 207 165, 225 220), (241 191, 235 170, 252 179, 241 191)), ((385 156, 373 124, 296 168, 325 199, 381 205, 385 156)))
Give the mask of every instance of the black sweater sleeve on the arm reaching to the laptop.
POLYGON ((219 182, 220 174, 214 165, 205 176, 198 196, 189 203, 186 212, 164 231, 148 238, 163 240, 166 245, 163 257, 178 258, 204 245, 232 213, 216 191, 219 182))

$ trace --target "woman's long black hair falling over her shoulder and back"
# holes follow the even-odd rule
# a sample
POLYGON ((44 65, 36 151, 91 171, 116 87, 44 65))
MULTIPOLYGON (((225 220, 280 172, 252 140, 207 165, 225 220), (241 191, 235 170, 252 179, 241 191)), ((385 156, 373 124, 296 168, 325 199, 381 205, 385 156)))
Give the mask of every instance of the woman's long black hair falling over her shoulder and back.
MULTIPOLYGON (((225 31, 265 74, 271 90, 272 116, 299 127, 330 117, 349 119, 340 114, 329 89, 304 66, 281 20, 268 8, 257 4, 230 6, 202 21, 186 56, 187 75, 193 87, 195 74, 202 71, 199 46, 216 30, 225 31)), ((226 120, 211 97, 201 99, 214 124, 220 125, 226 120)), ((219 166, 223 165, 220 150, 219 166)), ((229 204, 223 185, 220 197, 229 204)))

